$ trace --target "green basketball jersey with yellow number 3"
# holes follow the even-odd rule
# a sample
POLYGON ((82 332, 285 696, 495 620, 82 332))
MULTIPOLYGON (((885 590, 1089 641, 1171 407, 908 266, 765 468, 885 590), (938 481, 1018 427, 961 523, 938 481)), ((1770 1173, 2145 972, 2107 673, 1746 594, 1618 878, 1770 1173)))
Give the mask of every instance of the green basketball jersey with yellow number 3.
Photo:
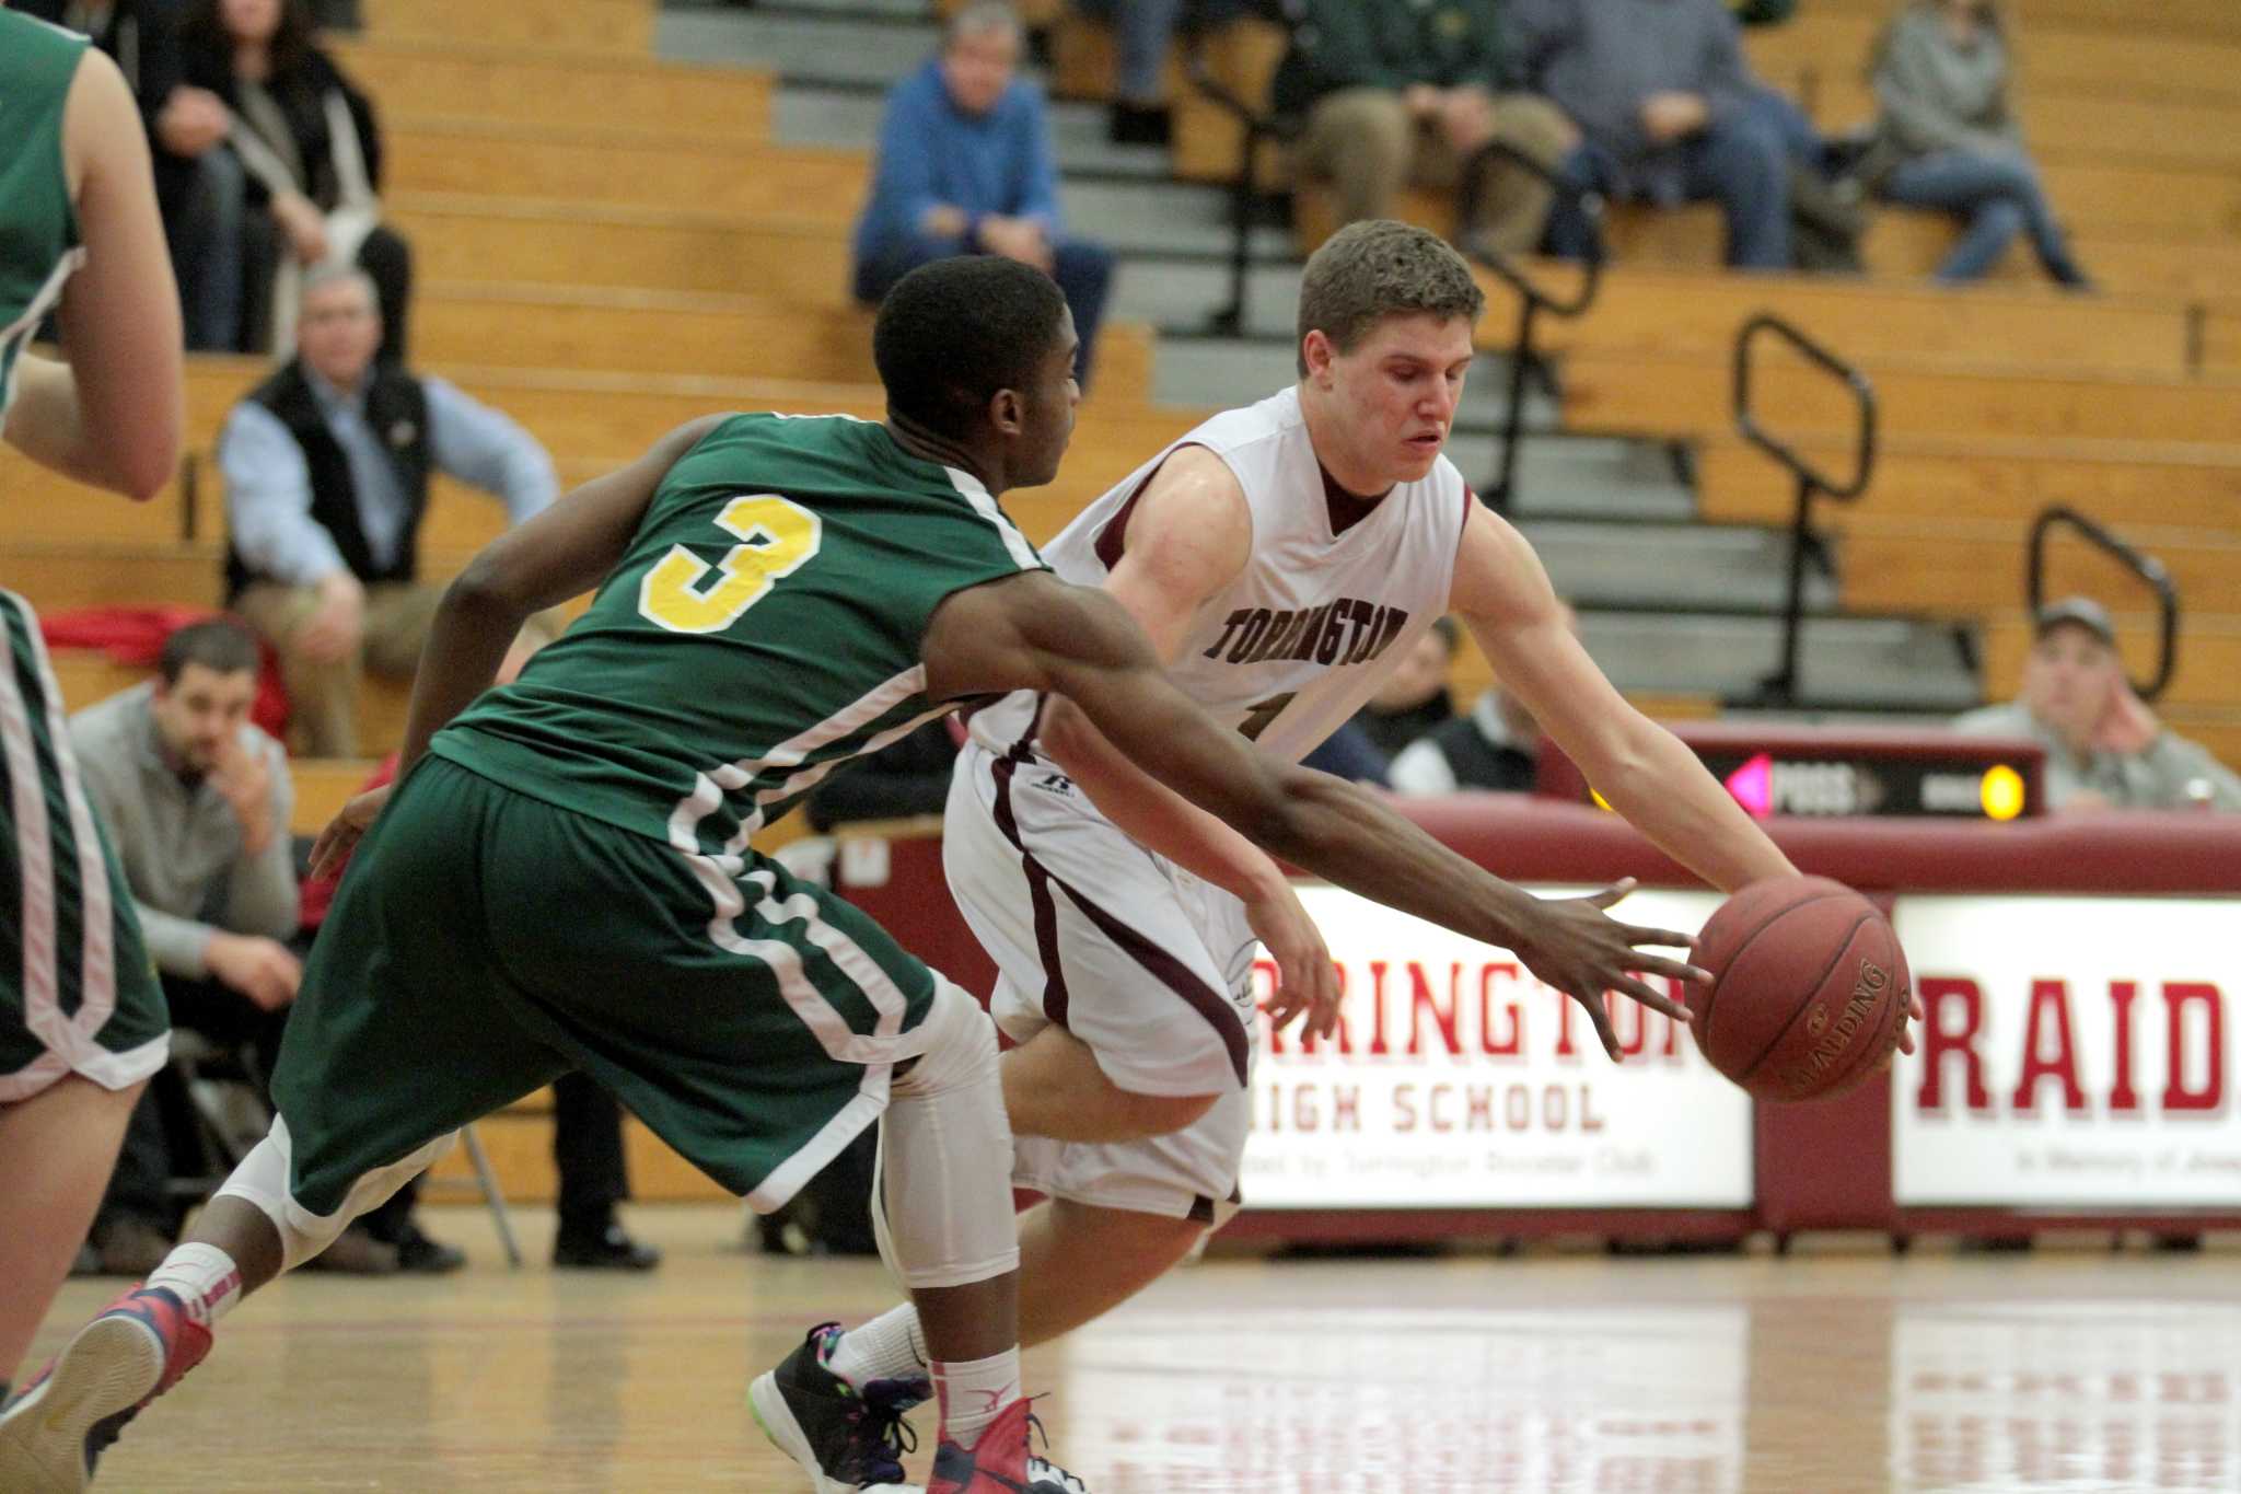
POLYGON ((661 482, 589 611, 430 750, 684 851, 737 853, 937 715, 955 591, 1042 558, 968 473, 849 417, 740 414, 661 482))

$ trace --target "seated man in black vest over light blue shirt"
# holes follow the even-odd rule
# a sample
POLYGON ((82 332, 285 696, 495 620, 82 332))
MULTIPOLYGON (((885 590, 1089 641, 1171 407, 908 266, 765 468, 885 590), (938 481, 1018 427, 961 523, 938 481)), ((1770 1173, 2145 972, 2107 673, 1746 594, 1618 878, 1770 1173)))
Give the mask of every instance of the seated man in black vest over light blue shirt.
POLYGON ((415 580, 430 475, 500 495, 515 524, 554 499, 551 459, 527 430, 441 379, 376 363, 379 343, 365 273, 316 271, 296 358, 233 408, 217 443, 226 605, 280 652, 309 757, 359 755, 365 667, 410 676, 419 663, 441 598, 415 580))

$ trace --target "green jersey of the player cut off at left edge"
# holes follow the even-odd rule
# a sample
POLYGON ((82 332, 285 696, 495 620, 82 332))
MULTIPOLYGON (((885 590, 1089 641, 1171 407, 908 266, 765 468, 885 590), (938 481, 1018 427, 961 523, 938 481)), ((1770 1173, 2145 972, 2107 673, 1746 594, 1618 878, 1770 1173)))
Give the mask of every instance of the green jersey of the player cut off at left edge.
POLYGON ((16 356, 83 258, 63 175, 63 105, 83 56, 83 36, 0 9, 0 414, 16 356))

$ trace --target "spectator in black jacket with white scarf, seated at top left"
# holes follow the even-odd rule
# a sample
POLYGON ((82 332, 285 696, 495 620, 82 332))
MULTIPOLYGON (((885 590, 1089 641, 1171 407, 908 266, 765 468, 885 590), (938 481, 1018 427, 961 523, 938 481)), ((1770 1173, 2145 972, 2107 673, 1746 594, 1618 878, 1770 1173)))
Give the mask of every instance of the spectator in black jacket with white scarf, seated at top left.
POLYGON ((381 224, 372 103, 311 36, 305 0, 193 0, 179 25, 186 87, 157 150, 193 164, 173 224, 188 347, 287 347, 296 280, 363 267, 381 296, 383 358, 406 356, 412 253, 381 224))

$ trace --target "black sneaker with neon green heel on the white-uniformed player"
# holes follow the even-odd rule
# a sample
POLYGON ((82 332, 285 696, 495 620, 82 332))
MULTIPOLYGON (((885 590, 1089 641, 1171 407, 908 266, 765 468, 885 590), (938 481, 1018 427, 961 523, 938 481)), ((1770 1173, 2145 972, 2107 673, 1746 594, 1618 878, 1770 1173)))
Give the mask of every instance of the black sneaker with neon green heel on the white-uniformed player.
POLYGON ((746 1404, 778 1451, 802 1465, 816 1494, 903 1485, 903 1454, 919 1438, 903 1413, 932 1398, 921 1375, 849 1384, 831 1369, 840 1324, 818 1324, 784 1362, 755 1378, 746 1404))

